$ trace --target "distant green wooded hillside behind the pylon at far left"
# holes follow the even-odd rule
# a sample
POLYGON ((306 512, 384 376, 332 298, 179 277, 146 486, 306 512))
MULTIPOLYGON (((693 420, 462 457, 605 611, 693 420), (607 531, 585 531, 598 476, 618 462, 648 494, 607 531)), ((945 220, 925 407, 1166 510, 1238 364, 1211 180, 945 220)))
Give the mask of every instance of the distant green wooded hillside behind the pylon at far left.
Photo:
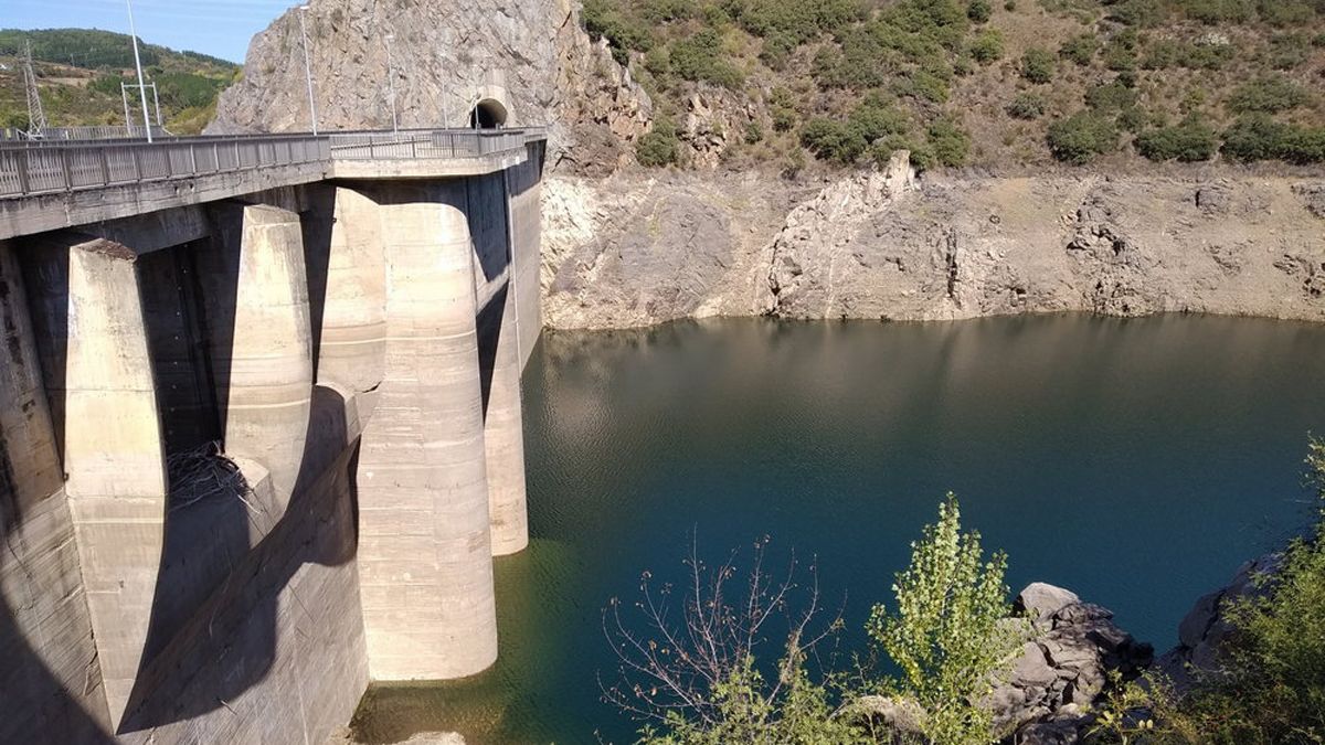
MULTIPOLYGON (((50 126, 125 123, 119 84, 134 82, 129 34, 0 29, 0 127, 28 125, 23 80, 26 41, 32 42, 37 86, 50 126)), ((201 131, 212 118, 217 94, 238 77, 238 65, 196 52, 140 41, 139 54, 143 74, 156 82, 166 127, 175 134, 201 131)))

